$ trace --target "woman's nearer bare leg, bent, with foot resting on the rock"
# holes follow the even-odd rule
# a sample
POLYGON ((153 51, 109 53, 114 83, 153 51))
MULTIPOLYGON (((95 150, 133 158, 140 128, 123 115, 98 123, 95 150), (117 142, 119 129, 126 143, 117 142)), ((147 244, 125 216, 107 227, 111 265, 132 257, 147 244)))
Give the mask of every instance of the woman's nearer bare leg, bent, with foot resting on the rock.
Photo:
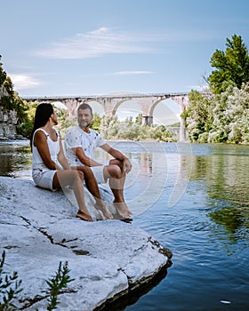
POLYGON ((92 221, 85 203, 84 203, 84 187, 83 187, 84 174, 81 171, 57 171, 52 180, 53 187, 72 186, 76 195, 79 211, 76 216, 86 221, 92 221))

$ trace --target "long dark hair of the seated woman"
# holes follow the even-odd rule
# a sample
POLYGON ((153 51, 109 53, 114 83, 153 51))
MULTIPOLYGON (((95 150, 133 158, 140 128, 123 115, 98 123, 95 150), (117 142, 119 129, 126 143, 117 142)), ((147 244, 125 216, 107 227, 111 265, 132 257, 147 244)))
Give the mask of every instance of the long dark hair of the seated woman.
POLYGON ((49 118, 51 117, 51 115, 53 114, 53 108, 52 105, 49 103, 41 103, 37 106, 36 108, 36 115, 35 115, 35 121, 34 121, 34 126, 33 126, 33 130, 31 132, 30 135, 30 147, 32 150, 32 140, 33 140, 33 135, 34 132, 44 126, 49 118))

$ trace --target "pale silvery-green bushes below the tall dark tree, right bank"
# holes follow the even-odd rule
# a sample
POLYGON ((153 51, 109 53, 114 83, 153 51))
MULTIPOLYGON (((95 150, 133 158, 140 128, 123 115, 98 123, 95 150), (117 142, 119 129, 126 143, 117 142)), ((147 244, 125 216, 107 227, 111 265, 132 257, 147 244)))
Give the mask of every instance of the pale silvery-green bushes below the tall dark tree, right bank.
POLYGON ((249 83, 222 87, 224 92, 209 98, 189 93, 190 105, 182 116, 190 141, 249 143, 249 83))

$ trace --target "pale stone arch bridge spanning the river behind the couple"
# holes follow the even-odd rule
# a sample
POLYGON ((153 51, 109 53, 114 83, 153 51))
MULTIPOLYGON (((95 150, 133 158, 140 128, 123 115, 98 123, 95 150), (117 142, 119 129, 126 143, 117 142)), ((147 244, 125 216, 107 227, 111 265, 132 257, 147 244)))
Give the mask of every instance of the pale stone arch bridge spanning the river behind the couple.
MULTIPOLYGON (((27 101, 54 102, 60 101, 68 108, 69 116, 76 116, 76 109, 81 103, 96 101, 104 109, 106 116, 115 116, 117 108, 124 101, 133 100, 141 107, 143 124, 153 124, 153 112, 157 104, 163 100, 175 101, 183 112, 189 106, 188 93, 153 93, 153 94, 109 94, 91 96, 52 96, 52 97, 24 97, 27 101)), ((184 131, 184 120, 181 120, 180 140, 187 140, 184 131)))

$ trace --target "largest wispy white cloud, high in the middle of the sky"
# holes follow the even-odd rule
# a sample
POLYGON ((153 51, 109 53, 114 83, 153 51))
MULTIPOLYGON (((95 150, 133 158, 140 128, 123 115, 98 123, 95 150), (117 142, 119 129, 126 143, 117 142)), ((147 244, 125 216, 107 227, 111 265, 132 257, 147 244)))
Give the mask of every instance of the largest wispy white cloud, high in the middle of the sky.
POLYGON ((47 48, 36 51, 35 55, 52 59, 85 59, 108 53, 158 52, 155 46, 149 46, 157 40, 157 36, 141 36, 99 28, 52 43, 47 48))

